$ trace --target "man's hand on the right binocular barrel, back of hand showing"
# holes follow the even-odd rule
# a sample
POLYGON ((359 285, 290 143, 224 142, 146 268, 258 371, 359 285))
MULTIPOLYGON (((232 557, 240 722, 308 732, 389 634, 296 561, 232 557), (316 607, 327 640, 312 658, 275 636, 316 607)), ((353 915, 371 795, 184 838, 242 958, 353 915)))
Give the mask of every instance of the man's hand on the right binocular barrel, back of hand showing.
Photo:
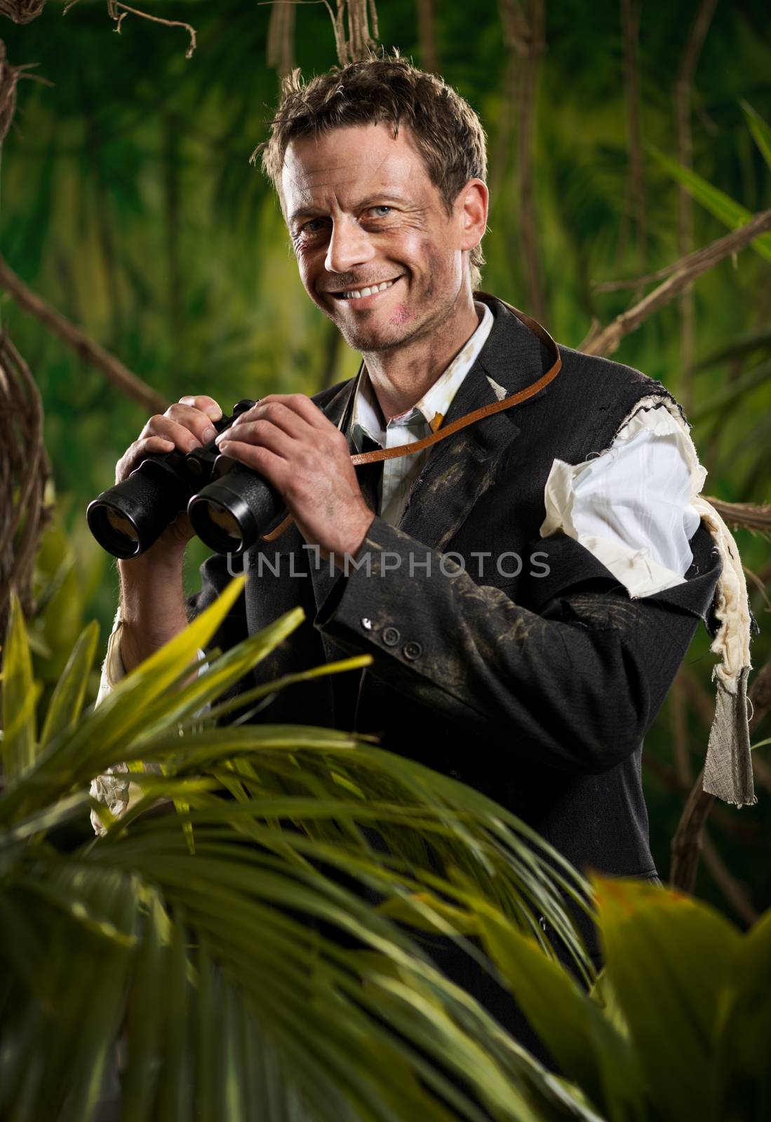
POLYGON ((282 495, 297 528, 338 568, 356 557, 373 521, 343 434, 304 394, 270 394, 218 439, 282 495))

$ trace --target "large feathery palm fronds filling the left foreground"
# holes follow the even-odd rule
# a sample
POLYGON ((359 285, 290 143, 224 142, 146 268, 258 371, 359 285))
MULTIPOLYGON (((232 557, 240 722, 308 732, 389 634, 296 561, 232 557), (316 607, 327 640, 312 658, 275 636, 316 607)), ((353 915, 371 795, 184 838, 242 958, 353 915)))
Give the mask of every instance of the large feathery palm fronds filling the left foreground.
MULTIPOLYGON (((501 1119, 588 1120, 580 1098, 388 916, 395 908, 462 940, 461 913, 484 912, 553 954, 542 916, 590 980, 566 911, 566 894, 588 907, 588 885, 505 810, 409 760, 330 729, 217 727, 233 705, 217 698, 302 619, 290 613, 210 653, 191 678, 241 586, 83 712, 98 638, 89 625, 39 732, 13 600, 2 678, 0 1114, 85 1122, 112 1095, 126 1120, 476 1120, 483 1103, 501 1119), (139 790, 119 818, 88 793, 112 765, 139 790), (163 812, 168 800, 176 812, 163 812), (92 808, 103 836, 73 844, 92 808)), ((238 703, 328 672, 267 683, 238 703)))

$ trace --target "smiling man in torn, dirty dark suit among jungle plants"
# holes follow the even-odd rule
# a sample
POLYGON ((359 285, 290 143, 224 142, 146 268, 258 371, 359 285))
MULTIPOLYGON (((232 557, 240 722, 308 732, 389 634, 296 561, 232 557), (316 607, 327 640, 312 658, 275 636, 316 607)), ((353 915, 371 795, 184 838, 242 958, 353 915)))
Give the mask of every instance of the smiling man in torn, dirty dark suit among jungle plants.
MULTIPOLYGON (((263 162, 305 291, 364 364, 313 399, 264 398, 219 438, 278 489, 293 525, 247 554, 218 645, 301 604, 308 623, 261 678, 374 656, 360 678, 300 687, 305 720, 376 733, 460 778, 582 870, 654 879, 642 739, 699 618, 715 623, 722 569, 679 406, 475 296, 485 137, 441 80, 388 57, 291 79, 263 162), (358 476, 351 465, 432 436, 358 476)), ((118 478, 210 440, 220 415, 211 397, 183 397, 150 419, 118 478)), ((181 517, 120 562, 104 688, 185 626, 190 536, 181 517)), ((193 611, 227 583, 226 559, 202 576, 193 611)), ((736 626, 724 613, 722 638, 736 626)), ((299 697, 282 693, 269 719, 292 719, 299 697)))

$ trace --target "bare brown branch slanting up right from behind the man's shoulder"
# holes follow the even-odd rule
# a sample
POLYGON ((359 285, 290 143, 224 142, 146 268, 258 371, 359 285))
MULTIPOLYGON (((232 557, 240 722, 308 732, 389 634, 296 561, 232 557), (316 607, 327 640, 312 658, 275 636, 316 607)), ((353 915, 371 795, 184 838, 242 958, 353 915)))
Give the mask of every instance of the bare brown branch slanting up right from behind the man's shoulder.
MULTIPOLYGON (((636 331, 641 323, 644 323, 649 315, 658 312, 660 307, 668 304, 678 293, 682 292, 686 285, 706 273, 726 257, 737 254, 750 242, 754 241, 761 233, 771 230, 771 210, 760 211, 754 214, 746 226, 734 230, 732 233, 718 238, 704 249, 698 249, 695 254, 689 254, 681 261, 677 263, 677 270, 660 284, 658 288, 650 292, 633 307, 622 312, 606 328, 596 332, 582 347, 585 355, 612 355, 618 349, 624 335, 636 331)), ((674 268, 674 267, 673 267, 674 268)))

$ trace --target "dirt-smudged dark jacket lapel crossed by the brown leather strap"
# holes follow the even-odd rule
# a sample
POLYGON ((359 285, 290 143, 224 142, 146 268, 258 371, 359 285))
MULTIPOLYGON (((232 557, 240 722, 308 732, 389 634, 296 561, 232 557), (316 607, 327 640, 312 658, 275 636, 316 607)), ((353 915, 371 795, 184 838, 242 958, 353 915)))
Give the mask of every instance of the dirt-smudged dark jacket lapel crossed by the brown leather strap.
MULTIPOLYGON (((553 361, 535 334, 508 307, 485 298, 495 324, 443 421, 508 397, 539 378, 553 361)), ((541 393, 548 393, 549 386, 541 393)), ((538 395, 541 396, 540 394, 538 395)), ((504 410, 438 443, 416 479, 400 530, 430 549, 443 550, 471 507, 492 485, 502 454, 520 433, 517 408, 504 410)))

